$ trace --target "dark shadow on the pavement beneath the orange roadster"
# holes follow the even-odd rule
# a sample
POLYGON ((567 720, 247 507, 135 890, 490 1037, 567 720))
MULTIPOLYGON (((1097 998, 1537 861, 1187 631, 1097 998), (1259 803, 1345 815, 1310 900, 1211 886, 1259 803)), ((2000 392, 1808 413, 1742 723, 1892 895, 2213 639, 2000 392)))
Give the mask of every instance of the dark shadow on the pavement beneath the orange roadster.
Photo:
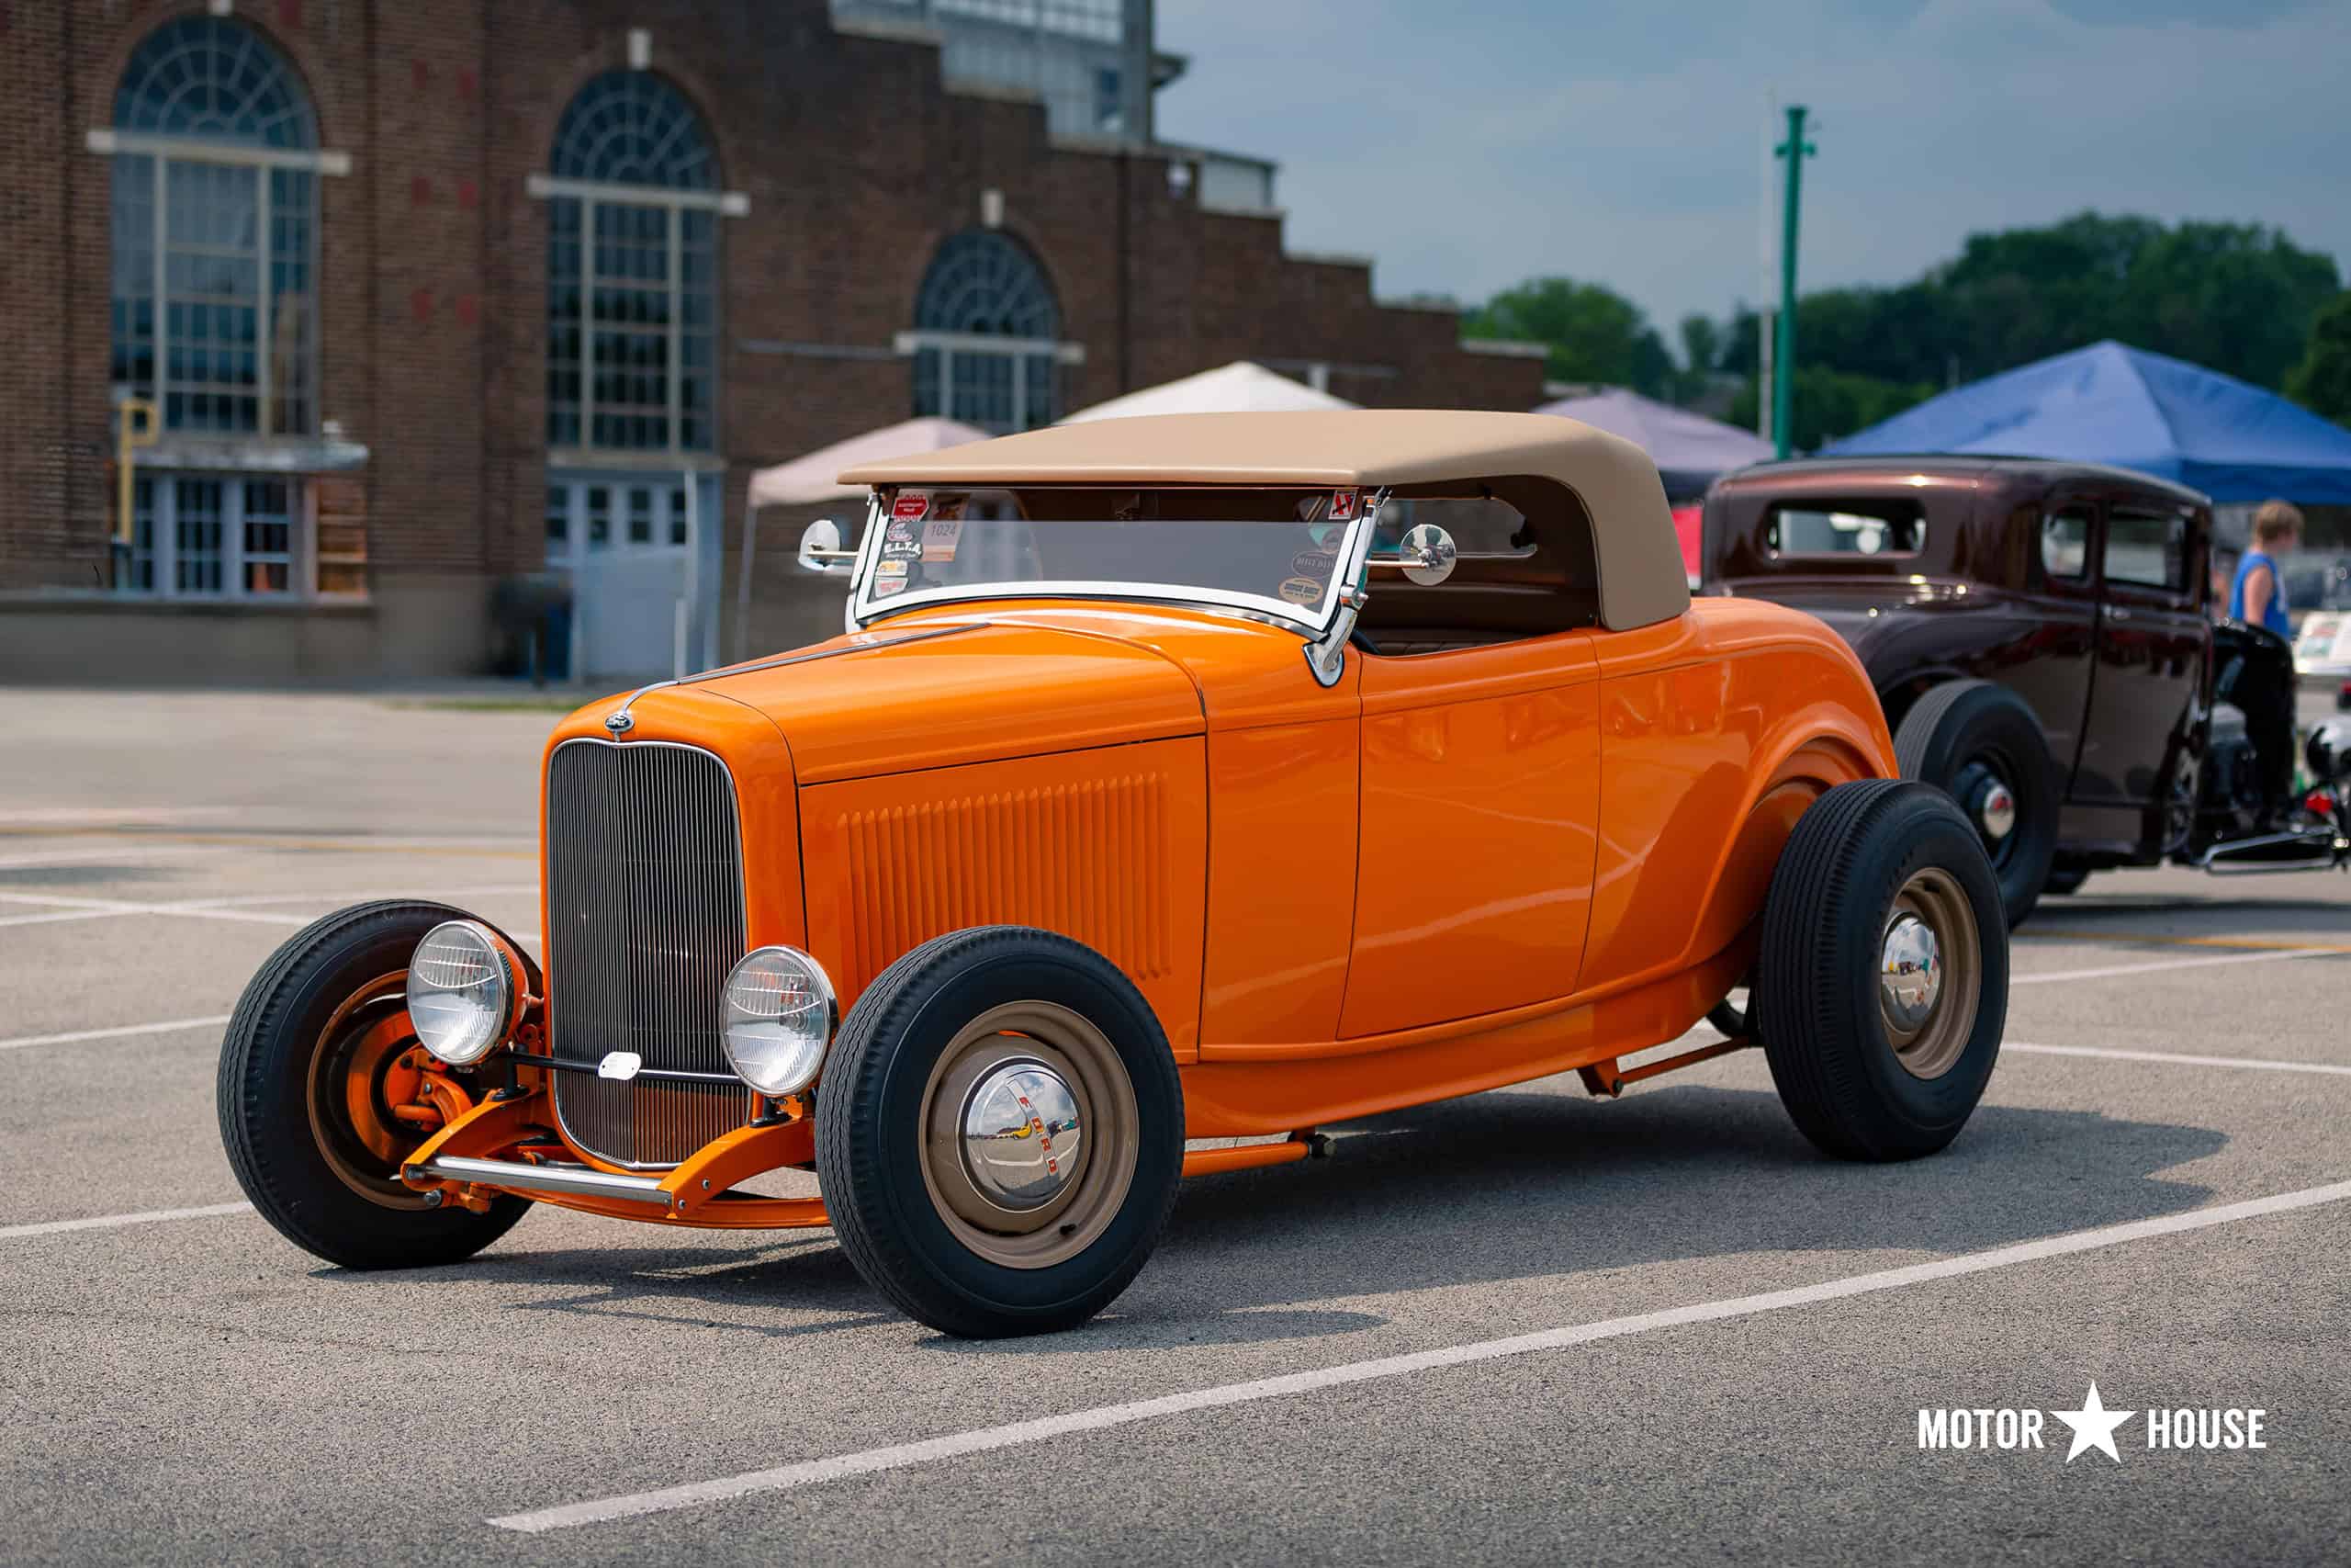
MULTIPOLYGON (((924 1345, 1025 1354, 1328 1338, 1387 1321, 1359 1309, 1366 1295, 1744 1253, 1841 1253, 1822 1276, 1848 1274, 1876 1267, 1853 1255, 1972 1253, 2196 1208, 2210 1190, 2161 1173, 2226 1145, 2208 1126, 1984 1105, 1942 1154, 1848 1164, 1817 1154, 1773 1093, 1695 1084, 1620 1103, 1498 1091, 1328 1131, 1331 1161, 1185 1182, 1152 1262, 1084 1331, 924 1345)), ((517 1314, 776 1340, 898 1319, 830 1232, 536 1251, 524 1220, 437 1274, 560 1286, 503 1307, 517 1314)))

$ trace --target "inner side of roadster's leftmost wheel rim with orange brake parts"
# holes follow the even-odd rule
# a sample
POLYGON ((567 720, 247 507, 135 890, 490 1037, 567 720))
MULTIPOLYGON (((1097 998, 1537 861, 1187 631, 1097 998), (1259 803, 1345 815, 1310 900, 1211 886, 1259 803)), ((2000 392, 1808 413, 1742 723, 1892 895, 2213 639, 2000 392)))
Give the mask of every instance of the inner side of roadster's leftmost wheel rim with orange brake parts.
POLYGON ((393 1117, 416 1098, 423 1077, 409 1027, 407 973, 369 980, 343 999, 310 1053, 310 1135, 336 1180, 383 1208, 416 1208, 423 1197, 400 1185, 400 1161, 423 1135, 393 1117))

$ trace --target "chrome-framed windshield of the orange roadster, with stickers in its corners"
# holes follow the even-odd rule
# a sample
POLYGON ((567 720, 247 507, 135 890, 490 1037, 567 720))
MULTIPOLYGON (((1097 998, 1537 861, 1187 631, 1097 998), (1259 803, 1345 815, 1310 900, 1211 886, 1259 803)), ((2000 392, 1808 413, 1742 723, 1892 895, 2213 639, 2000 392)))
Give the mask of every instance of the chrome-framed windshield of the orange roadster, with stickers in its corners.
POLYGON ((860 552, 858 614, 936 599, 1192 599, 1321 628, 1352 489, 903 489, 860 552))

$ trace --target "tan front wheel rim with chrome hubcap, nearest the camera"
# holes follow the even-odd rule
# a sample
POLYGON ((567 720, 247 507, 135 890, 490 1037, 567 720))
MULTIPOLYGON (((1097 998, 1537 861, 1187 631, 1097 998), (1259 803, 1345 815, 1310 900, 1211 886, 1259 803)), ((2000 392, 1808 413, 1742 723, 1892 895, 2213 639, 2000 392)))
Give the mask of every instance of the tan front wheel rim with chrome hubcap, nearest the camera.
POLYGON ((959 1244, 1049 1269, 1100 1239, 1138 1154, 1136 1086, 1110 1039, 1053 1001, 964 1025, 922 1100, 922 1185, 959 1244))

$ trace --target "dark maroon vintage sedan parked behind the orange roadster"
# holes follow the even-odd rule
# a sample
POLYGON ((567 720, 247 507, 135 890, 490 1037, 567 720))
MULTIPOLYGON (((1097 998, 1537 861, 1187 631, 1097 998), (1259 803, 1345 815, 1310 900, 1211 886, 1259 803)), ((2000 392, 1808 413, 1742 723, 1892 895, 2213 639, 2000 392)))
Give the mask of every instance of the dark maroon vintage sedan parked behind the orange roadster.
POLYGON ((1714 484, 1702 578, 1843 632, 2024 919, 2109 865, 2351 863, 2351 726, 2297 792, 2292 651, 2212 623, 2210 550, 2205 496, 2121 468, 1806 458, 1714 484))

